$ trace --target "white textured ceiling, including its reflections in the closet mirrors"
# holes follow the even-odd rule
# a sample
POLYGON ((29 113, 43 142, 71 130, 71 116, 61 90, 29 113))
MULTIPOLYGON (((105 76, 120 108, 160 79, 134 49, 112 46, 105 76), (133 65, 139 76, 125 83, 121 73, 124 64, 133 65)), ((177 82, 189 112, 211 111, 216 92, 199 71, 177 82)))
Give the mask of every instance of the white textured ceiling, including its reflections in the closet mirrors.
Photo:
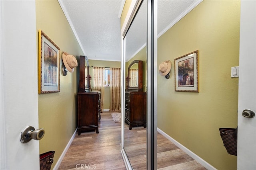
MULTIPOLYGON (((200 2, 158 0, 158 36, 200 2)), ((121 61, 119 17, 123 0, 59 0, 59 3, 88 59, 121 61)), ((128 61, 146 45, 146 1, 143 2, 126 37, 128 61)))

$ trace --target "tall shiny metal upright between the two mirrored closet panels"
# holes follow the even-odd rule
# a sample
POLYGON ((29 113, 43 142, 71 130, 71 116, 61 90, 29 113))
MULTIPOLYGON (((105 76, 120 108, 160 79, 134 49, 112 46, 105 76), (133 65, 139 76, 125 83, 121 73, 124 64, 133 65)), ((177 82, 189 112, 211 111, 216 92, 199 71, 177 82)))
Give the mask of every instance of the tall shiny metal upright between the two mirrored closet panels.
POLYGON ((147 169, 157 169, 157 0, 147 0, 147 169))

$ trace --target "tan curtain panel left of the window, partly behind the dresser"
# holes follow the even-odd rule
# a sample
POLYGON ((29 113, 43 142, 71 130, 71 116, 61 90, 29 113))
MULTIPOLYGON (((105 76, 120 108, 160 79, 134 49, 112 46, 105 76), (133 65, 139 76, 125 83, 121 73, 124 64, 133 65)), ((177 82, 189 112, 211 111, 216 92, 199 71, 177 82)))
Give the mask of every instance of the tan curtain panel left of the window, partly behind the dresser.
POLYGON ((100 101, 100 111, 104 109, 104 67, 94 67, 94 90, 100 90, 101 101, 100 101))

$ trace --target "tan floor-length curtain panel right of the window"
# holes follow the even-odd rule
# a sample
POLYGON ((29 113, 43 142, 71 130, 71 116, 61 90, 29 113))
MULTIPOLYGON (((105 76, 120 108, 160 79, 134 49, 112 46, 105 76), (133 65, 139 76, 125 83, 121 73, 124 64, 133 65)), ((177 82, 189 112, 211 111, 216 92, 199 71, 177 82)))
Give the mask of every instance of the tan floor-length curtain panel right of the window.
POLYGON ((110 108, 109 111, 120 111, 121 103, 121 71, 120 68, 110 68, 110 108))

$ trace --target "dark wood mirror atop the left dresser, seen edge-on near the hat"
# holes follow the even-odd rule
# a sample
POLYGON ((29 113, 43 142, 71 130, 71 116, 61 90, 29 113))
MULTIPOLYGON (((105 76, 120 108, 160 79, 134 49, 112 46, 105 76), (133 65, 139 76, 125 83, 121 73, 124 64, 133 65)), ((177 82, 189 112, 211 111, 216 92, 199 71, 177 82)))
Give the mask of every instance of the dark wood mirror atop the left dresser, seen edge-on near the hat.
POLYGON ((79 58, 79 91, 88 92, 90 91, 90 73, 89 73, 89 61, 87 56, 80 55, 79 58), (85 67, 87 66, 87 82, 85 83, 85 67))

